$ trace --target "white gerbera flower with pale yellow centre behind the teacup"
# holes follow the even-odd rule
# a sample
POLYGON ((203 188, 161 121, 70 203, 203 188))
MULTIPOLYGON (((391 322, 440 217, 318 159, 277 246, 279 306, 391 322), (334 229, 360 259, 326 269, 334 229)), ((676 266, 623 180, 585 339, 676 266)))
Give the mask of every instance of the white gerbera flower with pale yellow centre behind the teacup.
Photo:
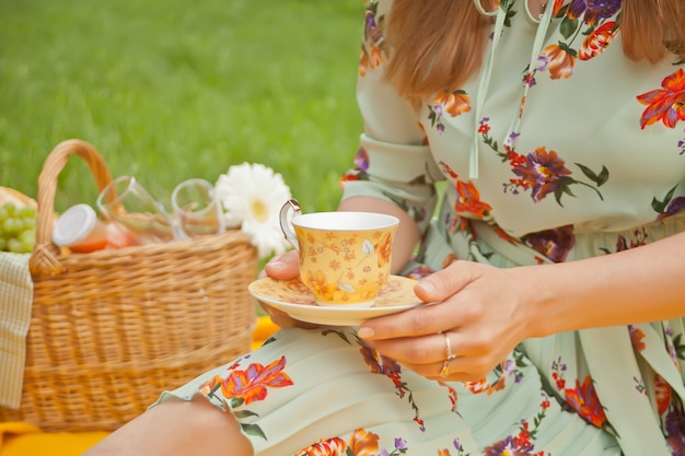
POLYGON ((257 247, 259 259, 286 252, 289 244, 280 229, 279 212, 291 196, 280 174, 258 163, 243 163, 229 167, 214 187, 227 227, 241 227, 257 247))

